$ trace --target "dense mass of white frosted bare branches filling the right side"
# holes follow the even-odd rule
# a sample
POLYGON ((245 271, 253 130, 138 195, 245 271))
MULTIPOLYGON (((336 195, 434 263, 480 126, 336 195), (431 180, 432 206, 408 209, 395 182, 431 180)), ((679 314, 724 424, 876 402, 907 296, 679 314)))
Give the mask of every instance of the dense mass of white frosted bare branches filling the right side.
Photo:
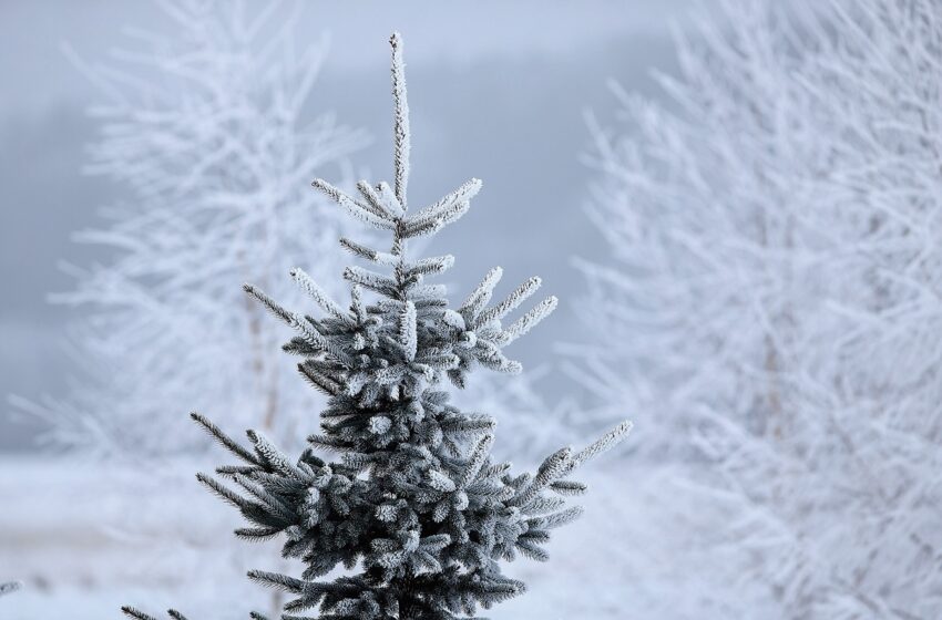
POLYGON ((658 412, 642 444, 714 463, 739 577, 715 598, 938 618, 939 7, 724 8, 679 41, 670 105, 618 91, 625 127, 595 132, 613 260, 581 267, 607 344, 573 371, 602 417, 658 412))

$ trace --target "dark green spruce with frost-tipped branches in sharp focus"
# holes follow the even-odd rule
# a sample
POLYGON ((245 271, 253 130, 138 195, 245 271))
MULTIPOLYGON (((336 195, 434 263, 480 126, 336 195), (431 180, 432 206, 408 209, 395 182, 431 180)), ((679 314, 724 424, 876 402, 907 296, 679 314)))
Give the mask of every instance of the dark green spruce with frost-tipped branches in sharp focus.
MULTIPOLYGON (((410 258, 408 241, 460 218, 481 183, 472 179, 433 205, 411 215, 407 210, 410 138, 399 35, 390 43, 395 183, 360 182, 360 197, 354 197, 314 182, 350 215, 388 231, 388 252, 340 239, 382 271, 348 267, 344 277, 350 282, 351 303, 344 308, 294 269, 291 278, 324 311, 319 319, 283 308, 255 286, 245 287, 297 330, 285 349, 304 358, 300 373, 329 396, 322 433, 311 435, 310 446, 293 462, 259 432, 248 432, 247 448, 193 414, 238 458, 217 469, 238 490, 198 475, 249 521, 236 535, 249 540, 284 535, 284 556, 305 565, 300 578, 249 572, 253 580, 295 597, 285 606, 285 620, 315 608, 320 620, 450 620, 521 593, 524 585, 504 577, 499 562, 518 554, 546 559, 550 530, 580 514, 562 497, 585 490, 570 475, 621 442, 631 427, 623 422, 580 452, 560 450, 534 474, 514 475, 510 463, 491 458, 495 421, 449 405, 440 385, 446 378, 461 388, 479 365, 519 372, 520 363, 505 358, 503 348, 544 319, 556 299, 550 297, 504 324, 536 291, 539 279, 489 306, 501 278, 494 268, 457 310, 449 308, 444 287, 426 283, 428 276, 447 270, 453 257, 410 258), (367 291, 375 301, 365 298, 367 291), (326 461, 317 456, 322 451, 341 457, 326 461), (347 575, 318 580, 341 566, 347 575)), ((150 618, 133 608, 124 611, 150 618)))

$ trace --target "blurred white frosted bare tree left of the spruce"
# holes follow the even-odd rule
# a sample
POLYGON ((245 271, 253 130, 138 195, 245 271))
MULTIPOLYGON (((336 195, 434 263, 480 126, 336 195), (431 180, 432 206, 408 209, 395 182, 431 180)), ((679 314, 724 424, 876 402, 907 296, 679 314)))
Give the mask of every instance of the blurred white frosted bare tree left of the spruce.
POLYGON ((239 285, 291 297, 283 276, 295 265, 326 281, 342 270, 316 248, 332 249, 346 225, 304 187, 346 174, 365 134, 311 112, 325 49, 296 49, 295 10, 158 6, 168 27, 129 30, 131 49, 105 64, 79 61, 104 95, 91 110, 101 128, 89 170, 124 199, 76 235, 107 260, 70 267, 78 286, 55 296, 88 311, 74 349, 90 372, 63 401, 19 404, 50 417, 66 444, 135 458, 193 450, 194 405, 287 441, 322 403, 284 389, 290 362, 273 348, 283 334, 239 285))

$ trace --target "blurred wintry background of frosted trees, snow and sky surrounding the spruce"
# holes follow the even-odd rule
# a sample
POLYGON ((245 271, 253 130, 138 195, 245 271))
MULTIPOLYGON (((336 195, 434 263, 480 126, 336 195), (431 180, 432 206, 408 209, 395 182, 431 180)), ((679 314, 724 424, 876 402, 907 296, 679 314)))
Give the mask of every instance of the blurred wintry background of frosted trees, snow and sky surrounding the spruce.
POLYGON ((286 2, 260 35, 238 6, 0 2, 0 618, 275 616, 246 570, 297 567, 233 540, 185 414, 289 454, 315 430, 239 286, 304 308, 299 266, 346 299, 334 240, 373 240, 307 182, 390 177, 393 30, 410 206, 483 179, 422 248, 438 281, 561 301, 509 350, 530 372, 453 402, 516 467, 634 422, 487 614, 942 617, 938 0, 286 2), (328 40, 304 100, 291 42, 328 40))

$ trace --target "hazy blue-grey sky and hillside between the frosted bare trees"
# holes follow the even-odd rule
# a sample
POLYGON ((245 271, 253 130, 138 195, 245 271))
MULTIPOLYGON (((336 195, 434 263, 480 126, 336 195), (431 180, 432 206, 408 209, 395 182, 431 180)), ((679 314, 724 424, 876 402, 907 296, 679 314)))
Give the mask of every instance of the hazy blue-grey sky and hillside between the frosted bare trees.
MULTIPOLYGON (((652 69, 673 66, 668 27, 688 2, 308 3, 299 37, 329 32, 330 54, 310 105, 336 111, 375 137, 355 164, 387 175, 386 40, 403 33, 413 131, 413 190, 419 202, 471 176, 484 190, 461 226, 436 246, 458 258, 454 280, 471 286, 493 265, 509 281, 531 275, 561 298, 561 312, 521 341, 524 363, 542 362, 557 340, 588 338, 573 304, 582 291, 572 255, 598 257, 601 238, 582 214, 591 173, 592 108, 611 120, 605 82, 655 93, 652 69), (367 10, 368 8, 368 10, 367 10), (522 235, 526 226, 528 235, 522 235)), ((68 42, 95 62, 122 42, 127 24, 172 28, 147 2, 0 2, 0 394, 62 394, 70 311, 45 294, 68 289, 61 260, 95 260, 70 234, 96 224, 115 188, 83 176, 83 148, 95 125, 84 114, 93 86, 68 61, 68 42)), ((40 427, 0 412, 0 450, 25 448, 40 427)))

